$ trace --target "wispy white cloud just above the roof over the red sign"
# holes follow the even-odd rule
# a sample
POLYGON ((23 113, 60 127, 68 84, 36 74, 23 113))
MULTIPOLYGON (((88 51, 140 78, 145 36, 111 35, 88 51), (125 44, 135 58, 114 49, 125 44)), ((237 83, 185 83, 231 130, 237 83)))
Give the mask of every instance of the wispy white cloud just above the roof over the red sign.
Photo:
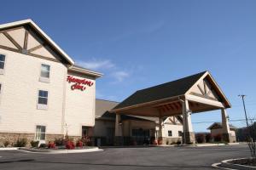
POLYGON ((80 60, 77 64, 91 70, 105 70, 115 66, 109 59, 91 59, 89 61, 80 60))

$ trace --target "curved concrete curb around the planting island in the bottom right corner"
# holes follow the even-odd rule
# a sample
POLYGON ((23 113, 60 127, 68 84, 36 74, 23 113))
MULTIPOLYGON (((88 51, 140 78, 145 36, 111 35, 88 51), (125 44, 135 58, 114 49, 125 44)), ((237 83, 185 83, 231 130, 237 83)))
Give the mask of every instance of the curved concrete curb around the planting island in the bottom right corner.
POLYGON ((255 170, 256 167, 251 167, 251 166, 246 166, 246 165, 239 165, 239 164, 234 164, 230 163, 229 161, 236 161, 236 160, 241 160, 241 159, 247 159, 247 158, 237 158, 237 159, 229 159, 229 160, 224 160, 219 163, 213 163, 212 167, 217 167, 217 168, 222 168, 222 169, 230 169, 230 170, 250 170, 253 169, 255 170))

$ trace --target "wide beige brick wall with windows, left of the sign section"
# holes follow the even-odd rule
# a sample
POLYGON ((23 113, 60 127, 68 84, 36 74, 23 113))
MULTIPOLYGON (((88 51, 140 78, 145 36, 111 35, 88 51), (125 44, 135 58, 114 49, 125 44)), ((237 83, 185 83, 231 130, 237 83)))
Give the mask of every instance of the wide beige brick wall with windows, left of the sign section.
POLYGON ((6 54, 0 104, 0 129, 5 133, 34 133, 36 125, 46 133, 61 133, 63 79, 61 63, 0 49, 6 54), (50 82, 39 82, 41 64, 50 65, 50 82), (38 110, 38 90, 49 91, 48 110, 38 110))

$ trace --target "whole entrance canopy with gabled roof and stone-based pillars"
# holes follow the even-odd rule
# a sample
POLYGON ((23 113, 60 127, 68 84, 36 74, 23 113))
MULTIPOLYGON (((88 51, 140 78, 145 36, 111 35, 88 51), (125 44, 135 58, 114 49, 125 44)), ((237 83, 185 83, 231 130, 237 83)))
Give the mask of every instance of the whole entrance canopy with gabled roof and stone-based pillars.
MULTIPOLYGON (((120 115, 162 117, 179 116, 183 119, 183 142, 195 143, 195 134, 191 123, 191 113, 221 110, 224 140, 230 141, 230 127, 226 108, 230 102, 208 71, 173 82, 166 82, 152 88, 145 88, 131 94, 127 99, 113 108, 116 114, 115 136, 120 137, 120 115)), ((161 126, 159 125, 159 139, 161 126)))

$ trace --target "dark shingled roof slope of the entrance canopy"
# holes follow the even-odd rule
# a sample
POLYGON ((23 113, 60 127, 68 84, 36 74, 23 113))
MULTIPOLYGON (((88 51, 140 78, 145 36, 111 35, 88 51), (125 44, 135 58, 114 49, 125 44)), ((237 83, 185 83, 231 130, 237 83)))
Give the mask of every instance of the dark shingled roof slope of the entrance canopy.
POLYGON ((185 94, 195 82, 197 82, 207 71, 184 77, 173 82, 166 82, 151 88, 138 90, 136 93, 131 94, 130 97, 125 99, 119 105, 115 106, 113 110, 124 108, 131 105, 143 104, 159 99, 167 99, 178 95, 185 94))

